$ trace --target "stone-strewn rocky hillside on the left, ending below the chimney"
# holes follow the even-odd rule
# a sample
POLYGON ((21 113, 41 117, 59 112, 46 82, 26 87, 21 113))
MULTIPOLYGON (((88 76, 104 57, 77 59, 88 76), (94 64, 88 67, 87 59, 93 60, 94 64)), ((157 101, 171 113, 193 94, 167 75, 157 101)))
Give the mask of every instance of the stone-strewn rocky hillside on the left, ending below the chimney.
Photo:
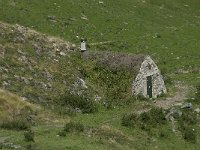
POLYGON ((74 47, 19 25, 0 23, 1 87, 38 103, 54 101, 78 80, 74 47))

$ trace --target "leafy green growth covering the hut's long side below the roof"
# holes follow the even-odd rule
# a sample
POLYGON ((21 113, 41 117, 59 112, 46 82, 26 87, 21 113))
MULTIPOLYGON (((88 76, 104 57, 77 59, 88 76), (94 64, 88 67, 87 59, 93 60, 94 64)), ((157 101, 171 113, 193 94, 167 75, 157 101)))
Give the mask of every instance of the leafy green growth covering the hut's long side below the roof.
POLYGON ((95 90, 95 93, 100 98, 97 100, 99 103, 106 108, 113 108, 131 101, 134 102, 134 97, 131 96, 134 71, 110 68, 106 64, 98 63, 98 61, 88 61, 87 63, 90 64, 89 67, 88 64, 83 63, 84 79, 92 83, 93 89, 98 89, 95 90))

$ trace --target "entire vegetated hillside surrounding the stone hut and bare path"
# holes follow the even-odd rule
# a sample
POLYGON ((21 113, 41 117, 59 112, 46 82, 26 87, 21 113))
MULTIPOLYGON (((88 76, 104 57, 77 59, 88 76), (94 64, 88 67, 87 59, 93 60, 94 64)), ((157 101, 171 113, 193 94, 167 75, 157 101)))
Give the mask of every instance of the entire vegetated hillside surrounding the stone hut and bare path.
POLYGON ((0 0, 0 149, 199 149, 199 14, 199 0, 0 0), (165 119, 131 96, 131 69, 83 60, 81 38, 150 55, 169 92, 159 99, 197 86, 193 107, 165 119))

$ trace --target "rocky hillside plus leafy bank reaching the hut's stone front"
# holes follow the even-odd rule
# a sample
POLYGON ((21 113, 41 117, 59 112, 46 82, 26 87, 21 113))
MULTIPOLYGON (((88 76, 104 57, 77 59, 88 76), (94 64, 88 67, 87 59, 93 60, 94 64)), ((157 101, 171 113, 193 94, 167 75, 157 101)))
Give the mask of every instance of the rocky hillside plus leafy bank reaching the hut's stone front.
MULTIPOLYGON (((61 100, 70 99, 71 94, 84 95, 107 107, 132 98, 131 85, 142 55, 134 63, 131 60, 136 57, 125 53, 108 52, 115 62, 101 51, 94 54, 96 58, 86 59, 74 44, 30 28, 0 22, 0 31, 0 83, 4 89, 51 108, 74 105, 61 100), (107 66, 109 62, 116 66, 107 66)), ((77 105, 74 109, 83 104, 77 105)))

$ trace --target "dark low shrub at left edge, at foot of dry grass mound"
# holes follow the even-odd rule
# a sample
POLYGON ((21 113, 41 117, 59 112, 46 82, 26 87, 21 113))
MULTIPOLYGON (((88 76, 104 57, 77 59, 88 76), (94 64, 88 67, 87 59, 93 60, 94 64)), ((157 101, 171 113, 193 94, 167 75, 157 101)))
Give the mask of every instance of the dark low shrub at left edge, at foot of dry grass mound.
POLYGON ((1 128, 11 130, 27 130, 30 128, 30 124, 25 119, 14 119, 12 121, 4 121, 1 124, 1 128))

